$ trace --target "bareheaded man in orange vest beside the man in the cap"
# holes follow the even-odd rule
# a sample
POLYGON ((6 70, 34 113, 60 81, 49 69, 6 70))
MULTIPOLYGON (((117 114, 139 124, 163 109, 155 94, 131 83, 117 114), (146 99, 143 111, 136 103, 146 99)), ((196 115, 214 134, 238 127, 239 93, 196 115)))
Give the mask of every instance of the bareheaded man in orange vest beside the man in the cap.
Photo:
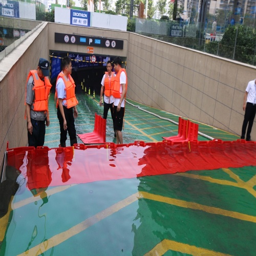
POLYGON ((55 97, 57 98, 57 117, 60 126, 60 145, 66 147, 67 132, 69 132, 70 145, 77 143, 75 119, 77 118, 75 96, 75 82, 71 77, 72 63, 70 57, 64 57, 61 61, 62 71, 56 81, 55 97), (73 111, 74 109, 74 111, 73 111))

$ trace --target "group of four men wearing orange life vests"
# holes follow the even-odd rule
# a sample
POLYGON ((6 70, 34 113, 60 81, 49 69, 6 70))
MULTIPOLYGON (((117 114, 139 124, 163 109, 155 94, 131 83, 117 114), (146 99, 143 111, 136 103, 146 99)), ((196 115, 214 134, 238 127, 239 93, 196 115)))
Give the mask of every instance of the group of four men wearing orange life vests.
MULTIPOLYGON (((124 117, 125 94, 127 90, 127 75, 122 69, 120 57, 108 61, 107 70, 102 78, 101 98, 104 91, 104 113, 106 119, 109 109, 113 119, 116 143, 122 144, 122 126, 124 117)), ((50 125, 48 99, 51 90, 51 83, 48 79, 50 63, 40 58, 36 70, 31 70, 26 83, 26 116, 28 129, 28 145, 43 146, 45 143, 46 126, 50 125)), ((70 137, 70 145, 77 143, 75 118, 78 116, 76 105, 78 100, 75 96, 75 82, 71 76, 72 61, 70 57, 64 57, 61 61, 62 71, 56 80, 55 98, 57 99, 57 117, 60 126, 60 147, 66 147, 67 133, 70 137)), ((101 105, 101 103, 100 103, 101 105)))

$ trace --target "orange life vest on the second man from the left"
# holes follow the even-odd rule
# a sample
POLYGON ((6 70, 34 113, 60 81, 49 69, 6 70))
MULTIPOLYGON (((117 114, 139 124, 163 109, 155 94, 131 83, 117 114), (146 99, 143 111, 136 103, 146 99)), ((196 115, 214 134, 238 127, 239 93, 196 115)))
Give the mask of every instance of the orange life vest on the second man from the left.
MULTIPOLYGON (((72 106, 75 106, 78 104, 78 100, 76 99, 76 95, 75 95, 75 82, 72 78, 71 75, 68 75, 68 78, 62 73, 60 72, 58 77, 57 77, 57 81, 59 78, 62 78, 64 83, 65 83, 65 90, 66 90, 66 98, 63 100, 66 100, 66 107, 67 109, 72 108, 72 106)), ((58 99, 58 94, 57 94, 57 90, 55 92, 55 98, 58 99)), ((57 100, 57 104, 56 107, 58 108, 58 100, 57 100)))

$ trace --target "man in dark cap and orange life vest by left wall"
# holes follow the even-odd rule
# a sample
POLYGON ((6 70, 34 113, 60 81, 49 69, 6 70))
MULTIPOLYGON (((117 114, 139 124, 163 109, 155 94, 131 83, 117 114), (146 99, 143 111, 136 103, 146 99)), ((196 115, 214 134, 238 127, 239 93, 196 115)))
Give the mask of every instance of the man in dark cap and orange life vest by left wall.
POLYGON ((46 125, 50 125, 48 97, 51 90, 49 61, 40 58, 36 70, 31 70, 26 84, 26 116, 29 146, 43 146, 45 143, 46 125))

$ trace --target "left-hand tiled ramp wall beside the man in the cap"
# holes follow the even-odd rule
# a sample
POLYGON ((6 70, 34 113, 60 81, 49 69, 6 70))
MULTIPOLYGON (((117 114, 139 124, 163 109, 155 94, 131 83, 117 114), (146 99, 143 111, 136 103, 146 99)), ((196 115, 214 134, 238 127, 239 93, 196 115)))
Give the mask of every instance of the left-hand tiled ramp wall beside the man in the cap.
POLYGON ((41 26, 0 61, 0 162, 9 148, 26 146, 25 84, 29 71, 36 69, 40 57, 49 59, 48 26, 41 26))

